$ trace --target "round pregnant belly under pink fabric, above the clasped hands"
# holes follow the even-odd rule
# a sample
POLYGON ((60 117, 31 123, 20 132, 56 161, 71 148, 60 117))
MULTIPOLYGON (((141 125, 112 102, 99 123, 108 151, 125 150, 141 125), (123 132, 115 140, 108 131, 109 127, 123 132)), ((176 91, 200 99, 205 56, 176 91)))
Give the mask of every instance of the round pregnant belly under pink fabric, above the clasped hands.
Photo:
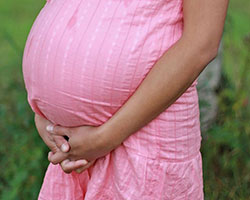
POLYGON ((129 8, 118 1, 82 2, 47 3, 32 26, 23 56, 32 109, 63 126, 108 120, 182 30, 181 22, 158 26, 162 21, 152 9, 144 7, 135 14, 137 1, 129 8))

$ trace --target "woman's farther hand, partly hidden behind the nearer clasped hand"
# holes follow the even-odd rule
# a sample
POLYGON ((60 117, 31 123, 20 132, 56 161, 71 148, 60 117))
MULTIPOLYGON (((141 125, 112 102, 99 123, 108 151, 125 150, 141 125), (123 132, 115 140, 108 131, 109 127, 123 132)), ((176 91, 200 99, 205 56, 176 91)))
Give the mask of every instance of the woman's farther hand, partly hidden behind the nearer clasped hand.
MULTIPOLYGON (((38 114, 35 114, 35 125, 40 137, 43 139, 44 143, 51 150, 51 152, 48 155, 48 158, 50 157, 50 154, 52 152, 62 153, 62 152, 68 152, 70 150, 70 145, 63 136, 49 133, 49 131, 53 130, 54 127, 54 125, 50 121, 41 117, 38 114)), ((70 167, 70 169, 74 169, 78 173, 87 169, 92 164, 93 162, 88 163, 86 160, 78 160, 71 162, 68 162, 68 160, 64 160, 63 162, 60 163, 62 169, 67 170, 68 167, 70 167)))

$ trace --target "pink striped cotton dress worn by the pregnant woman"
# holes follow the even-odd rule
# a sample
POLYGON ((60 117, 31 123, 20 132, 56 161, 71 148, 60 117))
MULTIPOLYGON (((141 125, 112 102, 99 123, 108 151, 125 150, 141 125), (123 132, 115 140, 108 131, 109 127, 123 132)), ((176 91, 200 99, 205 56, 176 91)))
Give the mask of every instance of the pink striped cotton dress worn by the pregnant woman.
MULTIPOLYGON (((62 126, 105 123, 180 39, 182 3, 47 1, 23 55, 33 111, 62 126)), ((202 200, 196 84, 82 174, 50 164, 39 199, 202 200)))

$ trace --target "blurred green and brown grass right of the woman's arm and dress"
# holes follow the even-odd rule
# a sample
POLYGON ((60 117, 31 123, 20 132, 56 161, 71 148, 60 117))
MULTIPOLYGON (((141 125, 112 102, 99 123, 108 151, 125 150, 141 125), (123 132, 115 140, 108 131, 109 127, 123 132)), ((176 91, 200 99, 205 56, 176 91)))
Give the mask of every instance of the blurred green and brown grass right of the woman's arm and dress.
POLYGON ((250 199, 250 2, 231 1, 223 37, 219 113, 202 143, 206 199, 250 199))

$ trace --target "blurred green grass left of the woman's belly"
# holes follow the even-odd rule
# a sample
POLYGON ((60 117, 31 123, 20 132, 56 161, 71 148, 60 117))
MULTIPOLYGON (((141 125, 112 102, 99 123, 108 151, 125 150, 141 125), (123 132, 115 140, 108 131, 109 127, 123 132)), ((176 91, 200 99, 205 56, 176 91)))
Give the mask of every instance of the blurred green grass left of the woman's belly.
POLYGON ((45 1, 0 1, 0 199, 37 199, 48 161, 27 103, 22 54, 45 1))

